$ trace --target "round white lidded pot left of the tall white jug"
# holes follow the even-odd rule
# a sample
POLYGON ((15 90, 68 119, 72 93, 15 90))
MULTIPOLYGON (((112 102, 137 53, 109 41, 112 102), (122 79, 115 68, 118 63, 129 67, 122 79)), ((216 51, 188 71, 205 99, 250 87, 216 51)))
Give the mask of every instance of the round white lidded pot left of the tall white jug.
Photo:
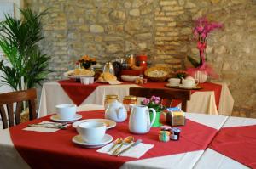
POLYGON ((125 121, 127 119, 127 110, 125 109, 124 104, 121 104, 117 100, 108 104, 105 110, 105 118, 116 122, 125 121))

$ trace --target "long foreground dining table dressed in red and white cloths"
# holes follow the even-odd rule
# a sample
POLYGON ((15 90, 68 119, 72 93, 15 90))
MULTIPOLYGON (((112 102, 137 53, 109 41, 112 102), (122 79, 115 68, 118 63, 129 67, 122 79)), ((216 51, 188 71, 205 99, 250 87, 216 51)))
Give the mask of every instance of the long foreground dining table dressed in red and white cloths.
MULTIPOLYGON (((102 105, 78 107, 83 119, 104 118, 102 105)), ((118 123, 107 133, 116 138, 128 135, 153 145, 139 158, 102 154, 73 144, 78 133, 66 130, 38 132, 29 124, 50 121, 54 114, 0 131, 0 168, 255 168, 256 119, 185 113, 178 141, 160 142, 160 127, 146 134, 133 134, 128 122, 118 123)), ((165 123, 162 119, 163 124, 165 123)))

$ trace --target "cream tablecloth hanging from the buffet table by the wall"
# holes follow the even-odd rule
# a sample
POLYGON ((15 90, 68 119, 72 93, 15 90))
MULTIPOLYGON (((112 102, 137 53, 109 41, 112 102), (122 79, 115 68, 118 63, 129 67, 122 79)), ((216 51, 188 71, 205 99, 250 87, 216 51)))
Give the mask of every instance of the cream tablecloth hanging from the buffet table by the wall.
MULTIPOLYGON (((219 99, 218 110, 215 102, 215 94, 213 91, 204 92, 198 91, 192 94, 191 100, 188 102, 188 112, 197 112, 209 115, 231 115, 234 99, 230 94, 230 90, 226 83, 219 83, 222 85, 222 91, 219 99)), ((109 85, 99 86, 84 100, 81 104, 103 104, 105 95, 117 94, 119 101, 129 95, 129 87, 140 87, 136 84, 130 85, 109 85)), ((55 112, 56 104, 72 104, 67 93, 62 89, 58 82, 44 83, 41 93, 41 100, 39 105, 39 116, 48 115, 55 112)))

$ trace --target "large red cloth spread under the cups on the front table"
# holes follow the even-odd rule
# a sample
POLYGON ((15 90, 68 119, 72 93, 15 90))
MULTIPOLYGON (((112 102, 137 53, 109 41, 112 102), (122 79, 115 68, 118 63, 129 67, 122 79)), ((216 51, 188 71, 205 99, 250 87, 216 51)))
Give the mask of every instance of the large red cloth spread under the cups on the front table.
MULTIPOLYGON (((104 116, 103 110, 80 112, 79 114, 86 119, 103 118, 104 116)), ((32 168, 113 169, 119 168, 126 161, 136 160, 130 157, 100 154, 96 152, 96 149, 82 149, 71 141, 73 136, 78 134, 73 127, 51 133, 22 130, 27 124, 39 121, 49 121, 49 115, 9 129, 15 149, 32 168)), ((112 135, 113 139, 133 135, 136 139, 143 139, 145 144, 154 144, 154 148, 140 159, 206 149, 217 133, 216 129, 189 120, 187 120, 186 126, 181 127, 181 129, 180 140, 168 143, 158 141, 159 128, 155 127, 152 127, 150 132, 144 135, 131 134, 128 130, 128 121, 118 123, 107 133, 112 135)))

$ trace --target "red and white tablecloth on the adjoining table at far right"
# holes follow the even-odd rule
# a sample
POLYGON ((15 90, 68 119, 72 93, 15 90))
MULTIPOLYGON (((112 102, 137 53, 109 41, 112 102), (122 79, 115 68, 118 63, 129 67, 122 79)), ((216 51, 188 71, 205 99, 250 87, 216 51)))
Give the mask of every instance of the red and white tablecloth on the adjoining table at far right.
POLYGON ((256 119, 229 117, 196 169, 256 168, 256 119))

